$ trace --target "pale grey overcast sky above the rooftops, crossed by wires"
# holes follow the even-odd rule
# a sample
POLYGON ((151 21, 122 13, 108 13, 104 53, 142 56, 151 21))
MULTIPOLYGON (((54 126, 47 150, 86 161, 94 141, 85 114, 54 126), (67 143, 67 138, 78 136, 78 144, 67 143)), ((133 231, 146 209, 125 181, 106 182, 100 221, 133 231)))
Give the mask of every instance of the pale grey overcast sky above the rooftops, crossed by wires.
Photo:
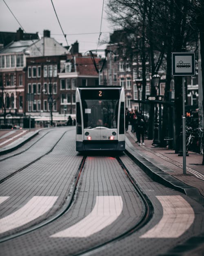
MULTIPOLYGON (((43 30, 48 29, 51 32, 51 37, 67 46, 52 6, 53 2, 63 32, 67 35, 68 45, 73 44, 77 40, 81 53, 97 49, 103 0, 4 1, 26 33, 39 32, 42 36, 43 30)), ((4 1, 0 0, 0 31, 16 32, 20 25, 4 1)), ((106 1, 108 0, 104 0, 100 41, 108 41, 109 32, 113 32, 113 27, 106 20, 106 1)), ((99 45, 98 49, 105 49, 105 46, 99 45)))

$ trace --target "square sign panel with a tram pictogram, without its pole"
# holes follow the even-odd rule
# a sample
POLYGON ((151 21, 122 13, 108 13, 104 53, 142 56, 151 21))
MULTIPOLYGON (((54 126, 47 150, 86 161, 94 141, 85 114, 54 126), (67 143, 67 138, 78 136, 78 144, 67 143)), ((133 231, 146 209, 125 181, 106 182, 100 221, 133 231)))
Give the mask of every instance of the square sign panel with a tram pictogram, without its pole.
POLYGON ((172 75, 194 76, 195 75, 195 53, 194 52, 172 52, 172 75))

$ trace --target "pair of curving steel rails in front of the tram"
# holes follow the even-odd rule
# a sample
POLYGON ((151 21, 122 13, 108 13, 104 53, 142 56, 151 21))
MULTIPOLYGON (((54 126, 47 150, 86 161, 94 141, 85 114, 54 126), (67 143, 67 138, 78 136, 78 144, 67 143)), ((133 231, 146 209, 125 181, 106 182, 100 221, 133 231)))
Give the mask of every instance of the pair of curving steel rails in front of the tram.
MULTIPOLYGON (((136 181, 133 179, 129 170, 126 168, 126 166, 124 165, 124 163, 122 162, 120 157, 119 156, 113 156, 113 157, 118 161, 118 163, 119 163, 120 167, 122 168, 125 176, 127 177, 127 179, 130 181, 131 185, 133 186, 133 188, 135 190, 135 193, 137 193, 138 197, 140 198, 140 201, 142 203, 142 209, 143 209, 140 220, 137 221, 137 223, 135 223, 135 225, 133 225, 133 227, 129 228, 124 233, 121 233, 118 236, 115 236, 115 237, 113 237, 113 238, 111 238, 111 239, 109 239, 105 242, 97 244, 94 247, 88 248, 88 249, 86 249, 86 250, 84 250, 80 253, 73 254, 73 256, 88 255, 89 253, 91 253, 93 251, 95 252, 97 250, 104 249, 104 247, 112 244, 113 242, 122 240, 122 239, 126 238, 127 236, 130 236, 132 233, 134 233, 135 231, 138 231, 147 222, 149 222, 149 220, 151 219, 151 217, 153 215, 153 206, 152 206, 150 200, 148 199, 148 197, 146 195, 144 195, 144 193, 140 190, 140 187, 137 185, 136 181)), ((129 156, 127 156, 127 157, 129 158, 129 156)), ((17 237, 22 236, 24 234, 27 234, 29 232, 35 231, 36 229, 40 229, 40 228, 46 226, 47 224, 50 224, 51 222, 54 222, 55 220, 62 217, 65 213, 67 213, 67 211, 69 211, 69 209, 73 205, 73 203, 75 201, 75 198, 76 198, 76 195, 78 193, 78 188, 80 186, 80 180, 81 180, 81 177, 82 177, 82 173, 83 173, 86 158, 87 158, 87 156, 83 156, 83 159, 80 163, 80 166, 79 166, 76 174, 74 175, 74 181, 73 181, 73 184, 71 185, 71 190, 68 192, 68 196, 64 200, 64 202, 61 203, 62 208, 60 208, 60 210, 58 210, 56 214, 50 216, 47 220, 44 220, 44 221, 42 221, 38 224, 34 224, 32 227, 29 227, 27 229, 24 229, 22 231, 19 231, 17 233, 12 234, 12 235, 0 238, 0 243, 1 242, 6 242, 6 241, 11 240, 13 238, 17 238, 17 237)))

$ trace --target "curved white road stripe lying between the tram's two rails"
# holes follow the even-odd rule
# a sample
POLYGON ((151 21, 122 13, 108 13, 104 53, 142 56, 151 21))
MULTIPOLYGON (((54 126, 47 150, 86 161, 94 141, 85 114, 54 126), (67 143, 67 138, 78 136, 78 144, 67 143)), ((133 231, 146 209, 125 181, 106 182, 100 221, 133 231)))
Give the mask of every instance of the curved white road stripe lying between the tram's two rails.
POLYGON ((93 211, 80 222, 51 237, 88 237, 110 225, 122 212, 121 196, 97 196, 93 211))

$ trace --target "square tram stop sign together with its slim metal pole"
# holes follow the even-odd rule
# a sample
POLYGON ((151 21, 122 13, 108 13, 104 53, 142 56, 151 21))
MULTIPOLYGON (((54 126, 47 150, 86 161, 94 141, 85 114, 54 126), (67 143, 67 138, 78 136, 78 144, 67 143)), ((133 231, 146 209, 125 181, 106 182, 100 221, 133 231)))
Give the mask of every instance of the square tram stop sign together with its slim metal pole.
POLYGON ((184 76, 195 75, 195 53, 193 52, 172 52, 172 75, 182 76, 182 94, 183 94, 183 174, 186 174, 186 117, 185 117, 185 80, 184 76))

